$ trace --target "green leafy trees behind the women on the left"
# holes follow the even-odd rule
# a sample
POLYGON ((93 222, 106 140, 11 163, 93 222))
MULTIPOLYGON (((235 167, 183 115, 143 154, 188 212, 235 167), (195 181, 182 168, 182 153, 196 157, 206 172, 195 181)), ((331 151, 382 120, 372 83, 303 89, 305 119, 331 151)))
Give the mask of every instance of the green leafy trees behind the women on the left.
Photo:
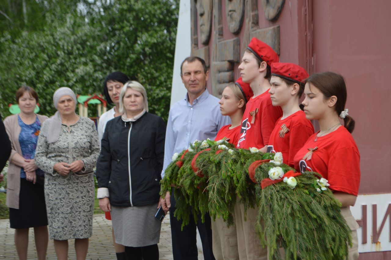
POLYGON ((0 11, 12 23, 0 13, 3 117, 23 84, 37 91, 40 113, 52 115, 60 86, 101 93, 106 75, 120 70, 145 86, 150 111, 167 119, 179 0, 25 0, 27 23, 22 0, 11 1, 14 9, 5 2, 0 11))

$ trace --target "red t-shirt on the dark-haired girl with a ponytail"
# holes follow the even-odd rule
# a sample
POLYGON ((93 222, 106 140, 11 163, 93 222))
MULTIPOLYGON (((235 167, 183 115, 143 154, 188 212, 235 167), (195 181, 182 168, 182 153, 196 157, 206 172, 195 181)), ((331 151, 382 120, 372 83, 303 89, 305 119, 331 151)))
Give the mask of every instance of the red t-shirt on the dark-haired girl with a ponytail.
POLYGON ((356 195, 360 185, 360 153, 352 134, 341 126, 334 132, 320 136, 316 134, 308 138, 304 146, 294 157, 296 170, 317 172, 328 180, 331 190, 356 195), (317 150, 310 160, 303 160, 308 148, 317 150))

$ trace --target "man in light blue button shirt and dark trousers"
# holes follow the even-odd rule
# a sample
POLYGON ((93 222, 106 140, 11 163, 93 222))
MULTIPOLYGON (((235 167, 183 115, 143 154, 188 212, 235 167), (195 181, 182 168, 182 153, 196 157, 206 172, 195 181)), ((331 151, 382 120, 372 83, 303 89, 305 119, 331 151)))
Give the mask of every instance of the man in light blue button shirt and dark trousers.
MULTIPOLYGON (((181 79, 187 94, 184 99, 176 102, 170 109, 167 122, 167 131, 164 150, 164 170, 171 162, 175 152, 182 152, 195 140, 214 140, 222 126, 231 123, 230 118, 222 116, 219 99, 210 95, 206 90, 209 72, 205 61, 199 57, 187 57, 181 64, 181 79)), ((205 216, 205 223, 201 217, 197 225, 194 219, 181 231, 181 221, 174 217, 174 197, 166 194, 161 200, 163 210, 170 209, 170 224, 172 235, 172 252, 174 259, 197 260, 196 228, 200 233, 204 259, 214 260, 212 253, 212 230, 210 217, 205 216)))

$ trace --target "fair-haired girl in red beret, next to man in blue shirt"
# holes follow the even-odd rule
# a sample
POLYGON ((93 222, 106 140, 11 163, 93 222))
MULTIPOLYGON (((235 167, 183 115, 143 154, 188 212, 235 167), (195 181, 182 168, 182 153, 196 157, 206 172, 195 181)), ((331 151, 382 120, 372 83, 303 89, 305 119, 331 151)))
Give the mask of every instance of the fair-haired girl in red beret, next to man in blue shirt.
MULTIPOLYGON (((239 78, 236 83, 229 83, 224 88, 219 101, 220 111, 221 115, 231 118, 231 125, 221 127, 215 141, 224 138, 233 145, 237 144, 246 102, 252 96, 253 91, 249 84, 242 81, 242 78, 239 78)), ((235 240, 237 241, 235 226, 228 228, 221 218, 212 220, 212 249, 216 259, 239 259, 238 243, 235 240)))

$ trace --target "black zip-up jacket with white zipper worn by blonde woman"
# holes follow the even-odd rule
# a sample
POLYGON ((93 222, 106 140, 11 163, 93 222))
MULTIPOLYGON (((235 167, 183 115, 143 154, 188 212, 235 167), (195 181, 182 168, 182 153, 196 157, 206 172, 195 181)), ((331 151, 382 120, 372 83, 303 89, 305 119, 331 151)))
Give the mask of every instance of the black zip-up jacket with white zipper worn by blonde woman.
POLYGON ((165 134, 163 119, 147 112, 135 122, 121 117, 107 122, 96 174, 99 188, 109 189, 111 205, 159 201, 165 134))

